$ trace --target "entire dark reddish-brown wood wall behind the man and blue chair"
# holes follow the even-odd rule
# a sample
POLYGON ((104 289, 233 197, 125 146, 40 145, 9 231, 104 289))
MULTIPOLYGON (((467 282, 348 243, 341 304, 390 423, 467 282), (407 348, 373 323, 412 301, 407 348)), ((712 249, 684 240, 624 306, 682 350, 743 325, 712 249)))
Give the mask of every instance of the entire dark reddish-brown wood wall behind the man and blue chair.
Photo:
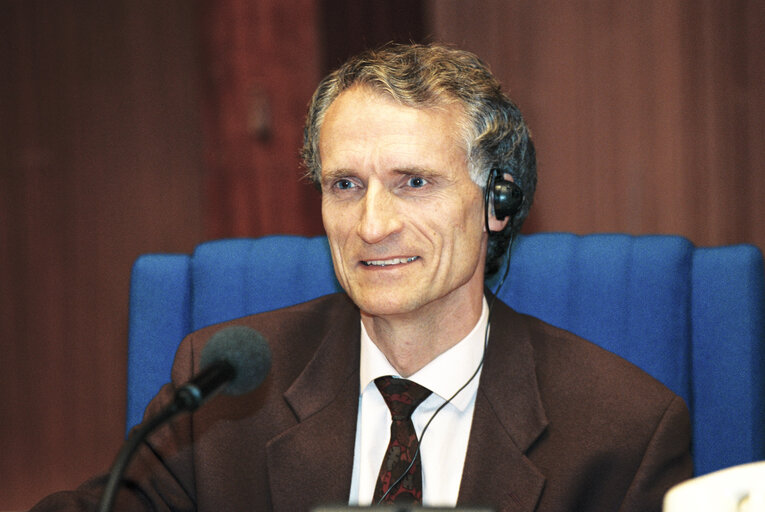
POLYGON ((130 266, 321 233, 319 78, 388 40, 481 55, 539 155, 527 231, 765 247, 760 1, 0 0, 0 510, 121 442, 130 266))

